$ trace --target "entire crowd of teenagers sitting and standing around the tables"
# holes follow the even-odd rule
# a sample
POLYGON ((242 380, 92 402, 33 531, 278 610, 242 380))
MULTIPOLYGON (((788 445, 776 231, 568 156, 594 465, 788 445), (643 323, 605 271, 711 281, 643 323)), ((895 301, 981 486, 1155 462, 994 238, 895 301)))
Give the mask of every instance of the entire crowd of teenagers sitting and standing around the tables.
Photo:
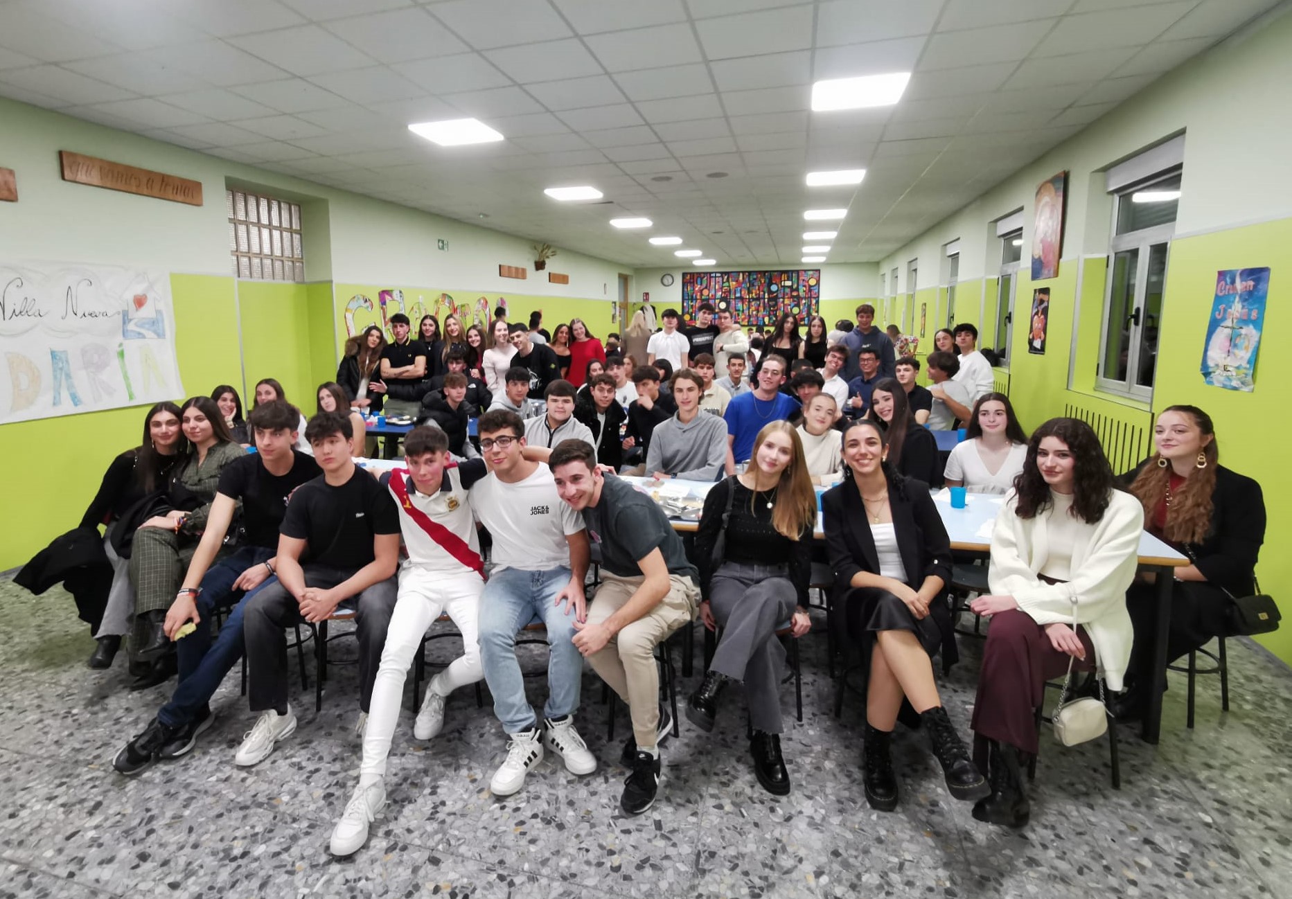
MULTIPOLYGON (((517 411, 491 403, 478 418, 470 455, 453 450, 450 429, 419 426, 404 438, 403 466, 380 477, 354 462, 363 438, 354 409, 366 408, 366 399, 389 408, 398 393, 393 382, 401 373, 425 377, 425 358, 406 369, 395 364, 403 358, 381 355, 366 368, 364 350, 376 344, 367 336, 351 341, 354 351, 348 350, 333 385, 339 393, 320 388, 319 411, 307 424, 276 384, 257 385, 257 404, 244 422, 255 453, 230 430, 240 416, 226 415, 221 390, 216 399, 198 397, 182 407, 159 403, 145 420, 142 444, 114 461, 83 522, 109 523, 114 564, 134 592, 133 608, 119 608, 115 624, 105 615, 92 664, 105 666, 105 656, 111 664, 115 646, 105 647, 103 637, 114 634, 105 629, 118 632, 119 645, 133 616, 132 642, 145 650, 134 664, 155 664, 150 655, 169 651, 180 676, 174 694, 116 754, 114 767, 134 774, 189 753, 213 722, 212 696, 244 654, 257 719, 235 762, 261 762, 297 726, 286 629, 324 621, 340 607, 353 610, 363 761, 331 838, 332 852, 353 854, 385 803, 386 757, 407 670, 430 624, 447 614, 464 652, 430 681, 413 736, 433 739, 443 726, 446 698, 483 678, 508 738, 490 780, 496 796, 519 790, 545 752, 572 775, 590 774, 598 758, 575 726, 587 659, 629 708, 633 734, 619 760, 628 771, 620 807, 641 814, 656 800, 660 743, 673 727, 660 703, 656 647, 698 619, 720 639, 686 717, 711 731, 727 704, 726 686, 742 682, 755 775, 769 792, 786 794, 791 779, 779 741, 786 650, 778 632, 788 628, 798 638, 811 630, 808 589, 815 555, 833 572, 833 642, 866 674, 860 763, 871 807, 898 803, 891 734, 901 717, 928 734, 950 793, 972 801, 974 818, 1025 824, 1030 805, 1021 770, 1037 752, 1035 710, 1045 681, 1070 665, 1088 670, 1112 691, 1118 714, 1138 714, 1149 699, 1155 588, 1137 575, 1141 531, 1191 561, 1174 570, 1180 584, 1167 655, 1176 659, 1229 633, 1233 597, 1253 592, 1265 530, 1261 490, 1218 464, 1212 421, 1196 407, 1160 412, 1152 456, 1115 477, 1084 422, 1052 418, 1028 437, 1008 397, 990 385, 951 380, 957 360, 975 371, 975 335, 957 329, 959 356, 930 354, 928 368, 951 369, 950 376, 921 388, 913 384, 913 359, 893 359, 881 341, 867 342, 882 332, 868 320, 863 326, 862 313, 849 332, 862 340, 829 346, 822 371, 810 371, 815 377, 800 371, 787 378, 789 360, 767 353, 756 360, 753 386, 745 385, 734 369, 748 360, 747 350, 714 340, 694 358, 678 359, 668 384, 672 412, 660 415, 662 376, 642 372, 658 373, 650 364, 656 359, 633 372, 636 398, 625 415, 641 422, 634 435, 690 453, 674 464, 647 447, 642 470, 714 482, 686 542, 647 493, 615 475, 621 466, 603 450, 607 443, 625 450, 624 430, 609 440, 587 426, 562 433, 580 424, 570 409, 590 397, 599 431, 614 434, 610 408, 623 408, 609 372, 575 389, 559 377, 536 385, 526 368, 526 394, 539 386, 545 412, 526 420, 525 404, 517 411), (724 350, 733 390, 716 412, 703 403, 721 384, 712 380, 713 353, 724 350), (348 382, 350 360, 357 360, 349 373, 358 380, 348 382), (893 377, 881 377, 885 364, 893 377), (851 367, 859 375, 849 381, 860 378, 870 391, 863 393, 866 384, 855 393, 849 388, 839 402, 829 381, 851 367), (373 393, 379 382, 384 390, 373 393), (937 390, 948 382, 960 390, 937 390), (916 389, 930 394, 928 407, 922 397, 912 398, 916 389), (333 400, 328 407, 324 393, 333 400), (968 439, 944 465, 929 461, 921 446, 924 438, 932 443, 925 425, 937 403, 966 426, 968 439), (553 409, 565 418, 553 420, 553 409), (704 465, 695 465, 700 442, 686 433, 702 417, 721 424, 711 429, 722 446, 720 453, 705 448, 704 465), (942 707, 932 661, 938 654, 944 666, 957 660, 950 603, 955 557, 930 493, 934 479, 1004 496, 991 539, 990 592, 970 603, 990 625, 969 745, 942 707), (826 484, 818 531, 817 486, 826 484), (132 512, 140 499, 159 493, 171 508, 156 505, 156 514, 140 521, 132 512), (123 546, 129 514, 133 545, 123 546), (479 528, 491 540, 488 567, 479 528), (594 549, 601 581, 589 598, 594 549), (225 614, 218 632, 212 626, 217 611, 225 614), (517 634, 531 624, 545 628, 550 646, 541 717, 526 698, 516 656, 517 634)), ((672 333, 668 313, 660 333, 672 333)), ((407 340, 408 323, 395 327, 394 344, 382 350, 407 340)), ((527 340, 527 328, 522 337, 503 327, 513 349, 509 363, 541 346, 527 340)), ((716 337, 722 333, 725 322, 716 337)), ((609 368, 614 356, 597 362, 609 368)), ((516 367, 508 364, 504 380, 516 367)), ((937 460, 935 446, 932 453, 937 460)), ((162 678, 140 673, 145 683, 162 678)))

